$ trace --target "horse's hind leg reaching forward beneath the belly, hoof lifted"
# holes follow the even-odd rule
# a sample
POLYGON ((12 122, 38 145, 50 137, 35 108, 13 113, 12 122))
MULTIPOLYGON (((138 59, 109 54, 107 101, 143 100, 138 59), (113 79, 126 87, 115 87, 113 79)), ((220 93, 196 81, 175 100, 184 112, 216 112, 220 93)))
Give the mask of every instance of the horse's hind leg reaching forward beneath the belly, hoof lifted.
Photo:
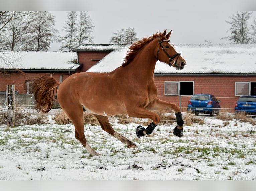
POLYGON ((123 137, 119 133, 115 132, 115 130, 112 128, 111 124, 109 123, 107 116, 101 116, 96 114, 94 114, 94 116, 98 119, 102 130, 106 131, 107 133, 111 134, 112 136, 120 140, 122 143, 126 144, 128 148, 136 147, 136 144, 134 144, 132 141, 128 140, 127 138, 123 137))

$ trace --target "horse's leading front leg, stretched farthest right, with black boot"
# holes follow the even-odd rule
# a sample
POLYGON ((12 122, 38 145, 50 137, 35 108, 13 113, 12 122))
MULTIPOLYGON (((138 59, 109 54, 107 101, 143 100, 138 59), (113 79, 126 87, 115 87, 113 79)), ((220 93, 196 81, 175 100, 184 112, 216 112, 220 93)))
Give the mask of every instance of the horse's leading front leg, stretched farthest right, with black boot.
POLYGON ((168 103, 160 99, 156 99, 156 101, 153 104, 150 104, 147 109, 152 111, 164 111, 164 110, 170 110, 170 109, 173 110, 175 112, 176 121, 177 121, 177 126, 173 129, 173 134, 178 137, 183 136, 184 121, 182 119, 182 114, 178 105, 174 103, 168 103))

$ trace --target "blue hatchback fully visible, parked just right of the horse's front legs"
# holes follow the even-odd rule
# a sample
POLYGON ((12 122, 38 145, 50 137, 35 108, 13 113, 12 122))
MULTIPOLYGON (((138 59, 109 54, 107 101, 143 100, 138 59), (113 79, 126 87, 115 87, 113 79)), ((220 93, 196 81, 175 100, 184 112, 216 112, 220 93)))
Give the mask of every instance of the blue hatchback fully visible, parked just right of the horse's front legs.
POLYGON ((195 113, 209 114, 213 116, 218 115, 220 111, 220 100, 217 100, 212 94, 194 94, 187 104, 187 111, 195 113))

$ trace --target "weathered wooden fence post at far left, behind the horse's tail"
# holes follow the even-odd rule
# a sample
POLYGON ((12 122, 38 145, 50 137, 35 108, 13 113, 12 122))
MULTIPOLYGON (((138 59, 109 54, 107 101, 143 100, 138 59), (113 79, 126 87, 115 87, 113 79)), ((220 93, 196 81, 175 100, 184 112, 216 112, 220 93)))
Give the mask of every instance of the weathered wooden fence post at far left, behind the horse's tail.
POLYGON ((8 121, 7 121, 7 126, 8 127, 13 127, 14 122, 15 122, 15 117, 14 117, 14 95, 15 95, 15 86, 14 84, 12 85, 7 85, 7 99, 8 99, 8 121))

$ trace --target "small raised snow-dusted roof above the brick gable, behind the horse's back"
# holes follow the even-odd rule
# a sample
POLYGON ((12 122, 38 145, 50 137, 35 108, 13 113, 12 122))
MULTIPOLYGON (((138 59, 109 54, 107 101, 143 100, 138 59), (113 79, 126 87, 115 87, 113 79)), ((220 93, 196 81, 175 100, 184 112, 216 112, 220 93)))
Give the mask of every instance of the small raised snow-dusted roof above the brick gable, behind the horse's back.
POLYGON ((73 49, 74 52, 91 52, 91 51, 113 51, 124 47, 125 45, 116 44, 82 44, 73 49))

